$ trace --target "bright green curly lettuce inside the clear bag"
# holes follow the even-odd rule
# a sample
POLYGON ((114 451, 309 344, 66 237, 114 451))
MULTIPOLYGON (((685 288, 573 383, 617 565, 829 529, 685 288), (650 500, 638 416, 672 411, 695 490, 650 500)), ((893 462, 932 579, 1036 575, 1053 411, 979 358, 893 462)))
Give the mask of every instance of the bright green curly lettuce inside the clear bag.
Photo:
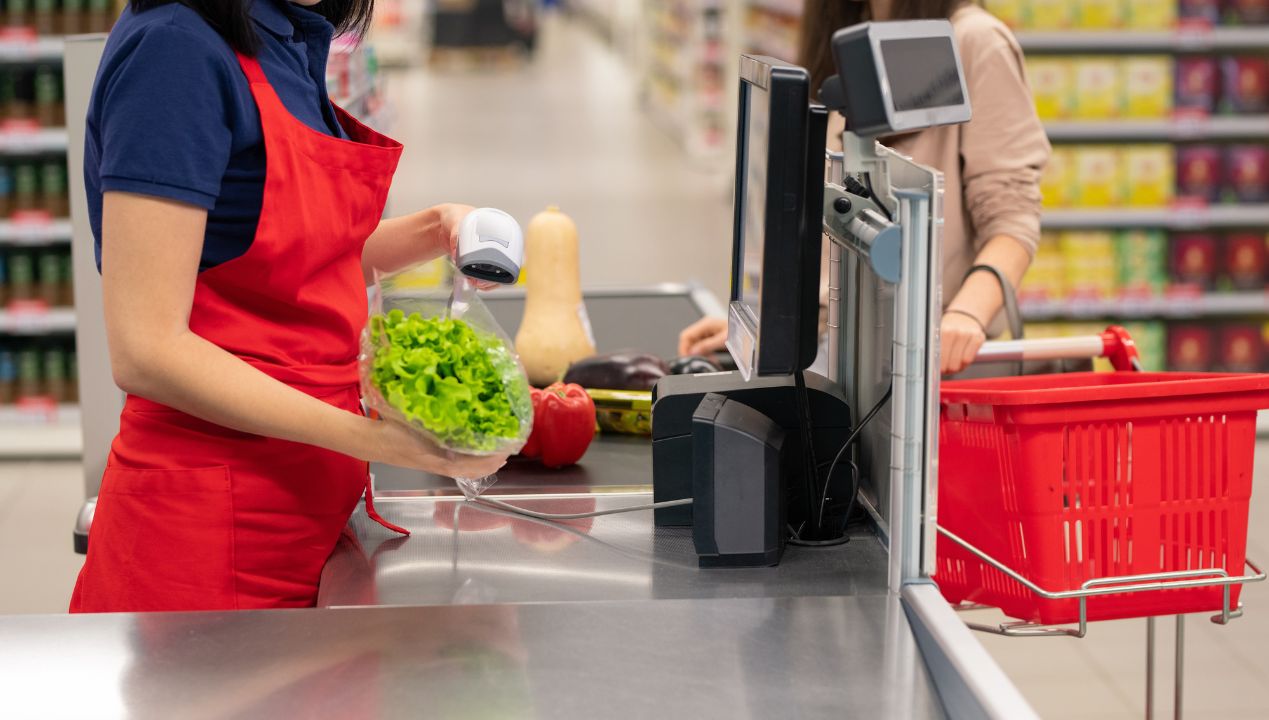
POLYGON ((452 317, 392 310, 371 317, 371 381, 390 405, 461 452, 523 441, 533 403, 515 357, 497 335, 452 317))

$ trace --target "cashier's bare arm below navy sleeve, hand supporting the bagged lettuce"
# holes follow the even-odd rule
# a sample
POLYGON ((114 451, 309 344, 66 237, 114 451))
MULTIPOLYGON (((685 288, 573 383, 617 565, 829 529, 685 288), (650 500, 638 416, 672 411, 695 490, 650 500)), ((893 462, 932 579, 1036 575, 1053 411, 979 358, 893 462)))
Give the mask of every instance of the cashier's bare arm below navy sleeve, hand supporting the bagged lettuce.
POLYGON ((102 284, 110 368, 126 392, 241 432, 362 460, 480 477, 505 458, 450 457, 397 423, 329 405, 249 366, 189 329, 207 211, 109 192, 102 284))

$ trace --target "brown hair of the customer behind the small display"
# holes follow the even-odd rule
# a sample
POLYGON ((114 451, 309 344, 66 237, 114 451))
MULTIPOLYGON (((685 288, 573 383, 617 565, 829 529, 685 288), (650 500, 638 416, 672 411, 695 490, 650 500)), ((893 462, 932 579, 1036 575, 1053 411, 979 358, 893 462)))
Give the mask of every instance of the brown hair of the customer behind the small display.
MULTIPOLYGON (((950 18, 966 0, 893 0, 892 20, 950 18)), ((832 62, 832 33, 868 19, 867 0, 805 0, 802 37, 798 39, 798 65, 811 72, 811 94, 836 74, 832 62)))

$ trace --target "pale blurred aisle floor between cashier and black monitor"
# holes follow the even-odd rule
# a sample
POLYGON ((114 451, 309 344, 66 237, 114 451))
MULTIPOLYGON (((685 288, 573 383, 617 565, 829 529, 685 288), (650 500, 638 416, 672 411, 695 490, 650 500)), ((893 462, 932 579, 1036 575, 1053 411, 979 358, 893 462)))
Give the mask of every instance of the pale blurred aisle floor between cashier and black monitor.
POLYGON ((557 204, 577 223, 584 287, 699 281, 725 293, 731 197, 638 109, 634 75, 594 33, 548 18, 532 65, 390 79, 406 151, 393 212, 453 201, 522 223, 557 204))

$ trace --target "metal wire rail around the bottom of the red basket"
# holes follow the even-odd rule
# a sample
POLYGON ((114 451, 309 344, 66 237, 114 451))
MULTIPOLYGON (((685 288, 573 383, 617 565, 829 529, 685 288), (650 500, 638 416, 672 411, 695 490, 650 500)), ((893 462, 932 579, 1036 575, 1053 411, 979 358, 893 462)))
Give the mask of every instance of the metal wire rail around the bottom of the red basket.
MULTIPOLYGON (((966 622, 971 629, 982 632, 991 632, 994 635, 1008 635, 1011 637, 1046 637, 1046 636, 1070 636, 1070 637, 1084 637, 1089 630, 1088 620, 1088 602, 1090 597, 1095 596, 1113 596, 1121 593, 1141 593, 1150 590, 1173 590, 1183 588, 1207 588, 1220 585, 1223 589, 1225 603, 1221 608, 1220 615, 1212 616, 1212 622, 1217 625, 1227 625, 1231 620, 1242 616, 1242 603, 1239 607, 1230 607, 1230 587, 1236 584, 1246 583, 1259 583, 1265 579, 1265 573, 1250 559, 1246 559, 1246 566, 1251 570, 1246 575, 1231 577, 1228 571, 1223 568, 1208 568, 1208 569, 1195 569, 1195 570, 1175 570, 1170 573, 1146 573, 1141 575, 1118 575, 1109 578, 1094 578, 1086 580, 1080 589, 1076 590, 1046 590, 1044 588, 1037 585, 1029 579, 1024 578, 1022 574, 1016 573, 1014 569, 1009 568, 1000 560, 996 560, 991 555, 987 555, 982 550, 975 547, 970 541, 956 535, 954 532, 947 530, 943 526, 935 526, 939 535, 950 540, 952 542, 959 545, 962 549, 975 555, 978 560, 991 565, 996 570, 1000 570, 1010 579, 1018 582, 1024 588, 1032 593, 1052 601, 1062 599, 1079 599, 1080 601, 1080 622, 1077 627, 1067 627, 1065 625, 1039 625, 1025 621, 1014 622, 1001 622, 1000 625, 982 625, 976 622, 966 622)), ((980 610, 987 606, 980 604, 966 604, 962 603, 957 606, 957 610, 980 610)))

